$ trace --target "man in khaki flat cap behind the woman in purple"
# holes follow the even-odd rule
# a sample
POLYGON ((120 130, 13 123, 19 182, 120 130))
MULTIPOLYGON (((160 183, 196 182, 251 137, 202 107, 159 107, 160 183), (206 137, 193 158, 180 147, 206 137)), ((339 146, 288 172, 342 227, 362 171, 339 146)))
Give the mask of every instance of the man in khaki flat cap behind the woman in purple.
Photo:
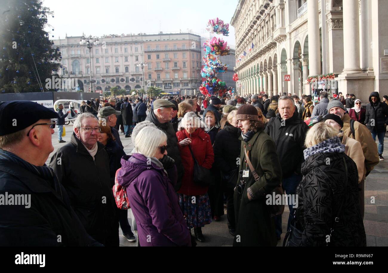
MULTIPOLYGON (((182 186, 182 177, 184 174, 184 168, 182 165, 182 158, 180 158, 180 152, 178 148, 178 139, 175 134, 171 119, 174 115, 174 108, 176 105, 171 101, 158 99, 154 101, 154 110, 150 111, 145 120, 152 122, 160 130, 163 130, 167 135, 167 155, 175 160, 175 166, 177 167, 178 180, 175 185, 175 191, 178 191, 182 186)), ((163 161, 162 161, 163 163, 163 161)))

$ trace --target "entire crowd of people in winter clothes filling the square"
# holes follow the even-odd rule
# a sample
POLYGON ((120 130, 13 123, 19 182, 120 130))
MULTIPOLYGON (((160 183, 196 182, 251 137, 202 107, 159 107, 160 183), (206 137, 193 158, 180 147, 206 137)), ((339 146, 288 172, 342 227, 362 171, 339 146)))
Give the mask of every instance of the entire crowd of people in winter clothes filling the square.
POLYGON ((120 227, 130 242, 136 229, 139 246, 195 246, 226 208, 233 246, 276 246, 295 230, 299 246, 366 246, 364 182, 384 160, 388 97, 372 92, 366 107, 353 94, 319 97, 85 101, 48 166, 53 128, 66 142, 69 111, 2 102, 0 194, 30 195, 31 207, 0 206, 0 245, 119 246, 120 227), (286 232, 268 204, 278 188, 298 200, 288 203, 286 232))

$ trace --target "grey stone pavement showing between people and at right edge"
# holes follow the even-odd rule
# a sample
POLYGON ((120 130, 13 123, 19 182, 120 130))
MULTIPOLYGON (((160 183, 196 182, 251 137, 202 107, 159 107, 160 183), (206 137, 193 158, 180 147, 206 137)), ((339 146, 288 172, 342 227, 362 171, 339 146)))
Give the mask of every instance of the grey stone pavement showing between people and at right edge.
MULTIPOLYGON (((73 124, 66 125, 66 136, 63 139, 70 141, 70 136, 73 133, 73 124)), ((125 138, 120 134, 121 142, 124 146, 125 153, 129 153, 133 149, 133 144, 130 138, 125 138)), ((54 151, 64 146, 66 143, 58 143, 57 129, 52 135, 52 143, 54 151)), ((378 143, 376 139, 376 143, 378 143)), ((47 164, 50 162, 51 153, 47 164)), ((367 246, 388 246, 388 135, 385 136, 383 156, 385 161, 380 161, 378 165, 372 170, 365 180, 365 217, 364 226, 367 239, 367 246), (371 203, 371 196, 374 196, 374 204, 371 203)), ((284 238, 284 232, 287 228, 288 207, 286 206, 282 217, 283 234, 282 239, 277 246, 281 246, 284 238)), ((128 211, 128 219, 130 220, 130 213, 128 211)), ((136 246, 136 242, 128 242, 120 230, 120 246, 136 246)), ((197 246, 232 246, 233 237, 229 234, 227 228, 226 211, 225 215, 221 217, 221 221, 212 222, 206 225, 203 229, 203 234, 207 241, 199 243, 197 246)))

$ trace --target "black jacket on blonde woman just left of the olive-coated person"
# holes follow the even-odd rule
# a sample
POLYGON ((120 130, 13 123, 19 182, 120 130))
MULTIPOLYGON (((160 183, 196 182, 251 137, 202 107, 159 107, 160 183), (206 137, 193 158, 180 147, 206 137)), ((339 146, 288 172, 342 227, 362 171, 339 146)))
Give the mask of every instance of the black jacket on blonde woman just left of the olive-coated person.
POLYGON ((225 123, 225 126, 220 130, 214 142, 214 162, 223 173, 229 173, 237 168, 237 158, 241 152, 241 130, 225 123))

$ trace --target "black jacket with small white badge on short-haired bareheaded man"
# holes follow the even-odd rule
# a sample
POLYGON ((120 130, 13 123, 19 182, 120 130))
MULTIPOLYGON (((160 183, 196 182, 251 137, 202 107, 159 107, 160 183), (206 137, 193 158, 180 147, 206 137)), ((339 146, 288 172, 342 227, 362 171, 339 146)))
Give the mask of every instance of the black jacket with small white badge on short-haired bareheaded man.
POLYGON ((274 140, 283 178, 289 177, 293 172, 300 173, 307 130, 308 126, 299 118, 296 110, 284 124, 279 113, 268 120, 264 132, 274 140))

